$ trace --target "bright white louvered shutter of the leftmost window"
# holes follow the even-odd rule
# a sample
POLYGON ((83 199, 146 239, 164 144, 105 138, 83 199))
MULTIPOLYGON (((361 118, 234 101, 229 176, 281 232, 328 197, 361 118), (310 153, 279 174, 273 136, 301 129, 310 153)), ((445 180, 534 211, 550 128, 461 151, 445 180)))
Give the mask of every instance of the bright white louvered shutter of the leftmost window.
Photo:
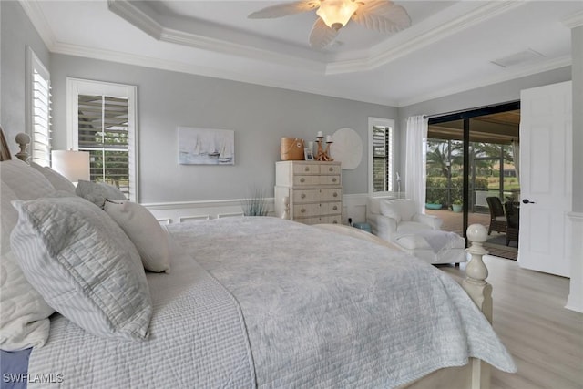
POLYGON ((51 93, 48 74, 35 67, 32 75, 32 159, 41 166, 51 164, 51 93))

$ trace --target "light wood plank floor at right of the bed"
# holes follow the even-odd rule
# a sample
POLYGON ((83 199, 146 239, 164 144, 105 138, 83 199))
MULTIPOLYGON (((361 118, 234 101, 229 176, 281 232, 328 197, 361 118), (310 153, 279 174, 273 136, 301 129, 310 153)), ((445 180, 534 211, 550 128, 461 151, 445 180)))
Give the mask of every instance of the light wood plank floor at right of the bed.
MULTIPOLYGON (((494 329, 518 373, 492 369, 492 389, 583 388, 583 313, 564 308, 568 279, 521 269, 516 261, 486 256, 493 287, 494 329)), ((465 276, 465 265, 440 266, 465 276)))

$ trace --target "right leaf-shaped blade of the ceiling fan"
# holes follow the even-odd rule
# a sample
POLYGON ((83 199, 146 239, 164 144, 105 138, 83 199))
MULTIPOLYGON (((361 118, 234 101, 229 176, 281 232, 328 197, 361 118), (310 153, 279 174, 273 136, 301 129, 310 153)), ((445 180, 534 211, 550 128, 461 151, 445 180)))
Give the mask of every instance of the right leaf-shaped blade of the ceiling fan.
POLYGON ((394 33, 411 26, 411 17, 404 7, 390 0, 363 1, 352 20, 379 33, 394 33))

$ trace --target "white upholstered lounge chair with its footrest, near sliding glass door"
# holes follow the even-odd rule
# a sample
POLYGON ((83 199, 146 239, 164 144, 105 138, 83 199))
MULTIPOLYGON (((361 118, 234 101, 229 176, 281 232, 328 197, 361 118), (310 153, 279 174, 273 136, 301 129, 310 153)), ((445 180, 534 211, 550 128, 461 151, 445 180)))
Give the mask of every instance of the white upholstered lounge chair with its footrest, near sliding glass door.
POLYGON ((466 261, 465 240, 441 231, 443 220, 419 213, 413 200, 369 198, 366 220, 373 234, 429 263, 466 261))

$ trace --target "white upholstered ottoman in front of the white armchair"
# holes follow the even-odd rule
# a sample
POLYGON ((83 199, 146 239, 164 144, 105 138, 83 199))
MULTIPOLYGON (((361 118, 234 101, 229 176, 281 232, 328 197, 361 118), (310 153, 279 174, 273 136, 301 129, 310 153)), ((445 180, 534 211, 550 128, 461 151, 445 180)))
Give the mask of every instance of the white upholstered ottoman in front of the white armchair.
POLYGON ((422 230, 398 235, 393 242, 401 250, 431 264, 467 261, 465 239, 455 232, 422 230))

